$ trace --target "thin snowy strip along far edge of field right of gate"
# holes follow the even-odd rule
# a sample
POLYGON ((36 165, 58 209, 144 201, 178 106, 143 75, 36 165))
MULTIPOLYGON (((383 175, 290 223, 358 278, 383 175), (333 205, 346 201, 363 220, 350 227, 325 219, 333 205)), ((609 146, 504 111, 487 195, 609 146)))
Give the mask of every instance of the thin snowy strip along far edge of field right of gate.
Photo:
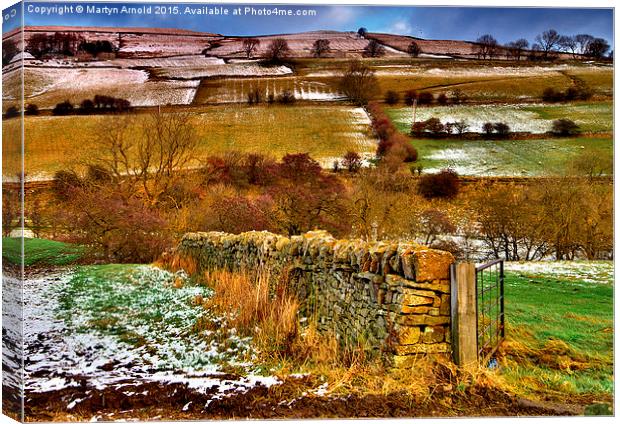
POLYGON ((506 262, 508 272, 524 277, 574 280, 586 283, 613 284, 612 261, 541 261, 506 262))

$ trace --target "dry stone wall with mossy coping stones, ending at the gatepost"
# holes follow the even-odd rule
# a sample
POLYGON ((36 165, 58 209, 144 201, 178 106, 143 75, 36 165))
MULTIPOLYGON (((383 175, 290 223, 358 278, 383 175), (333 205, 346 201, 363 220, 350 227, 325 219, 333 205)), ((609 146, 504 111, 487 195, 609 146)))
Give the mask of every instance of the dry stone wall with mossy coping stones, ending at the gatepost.
POLYGON ((342 341, 366 342, 406 366, 450 351, 448 252, 413 243, 337 240, 324 231, 186 234, 177 255, 199 269, 268 267, 300 300, 300 313, 342 341))

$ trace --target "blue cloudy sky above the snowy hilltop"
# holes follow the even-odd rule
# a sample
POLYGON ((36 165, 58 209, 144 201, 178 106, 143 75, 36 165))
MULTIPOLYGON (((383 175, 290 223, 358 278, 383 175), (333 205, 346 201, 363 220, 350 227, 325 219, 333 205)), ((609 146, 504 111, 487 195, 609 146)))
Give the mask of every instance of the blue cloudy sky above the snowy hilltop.
MULTIPOLYGON (((310 4, 310 3, 309 3, 310 4)), ((186 7, 200 8, 200 3, 156 2, 27 2, 24 20, 26 25, 70 25, 110 27, 181 28, 224 35, 263 35, 312 30, 356 31, 365 27, 371 32, 389 32, 428 39, 476 40, 483 34, 492 34, 500 43, 517 38, 530 42, 537 34, 555 29, 561 34, 587 33, 608 40, 613 45, 613 9, 611 8, 514 8, 514 7, 424 7, 424 6, 312 6, 265 4, 217 4, 208 7, 225 8, 229 14, 191 15, 186 7), (88 13, 87 6, 116 7, 119 13, 88 13), (150 13, 122 13, 123 6, 151 6, 150 13), (178 14, 157 15, 158 5, 177 6, 178 14), (72 11, 66 7, 73 6, 72 11), (82 13, 76 9, 81 6, 82 13), (245 7, 253 10, 246 12, 245 7), (281 10, 312 10, 315 16, 265 16, 256 13, 273 6, 281 10), (39 9, 36 9, 36 8, 39 9), (241 7, 243 13, 234 15, 241 7), (47 9, 46 9, 47 8, 47 9), (62 15, 60 10, 65 11, 62 15)), ((222 9, 219 9, 220 11, 222 9)), ((18 16, 3 15, 3 32, 19 25, 18 16), (8 17, 8 19, 7 19, 8 17)), ((174 11, 172 11, 174 12, 174 11)))

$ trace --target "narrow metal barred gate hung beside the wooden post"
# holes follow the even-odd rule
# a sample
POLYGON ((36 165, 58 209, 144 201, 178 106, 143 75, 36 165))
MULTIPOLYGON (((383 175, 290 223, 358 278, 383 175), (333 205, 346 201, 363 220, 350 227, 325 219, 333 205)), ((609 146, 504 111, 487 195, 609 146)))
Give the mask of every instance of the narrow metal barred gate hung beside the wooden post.
POLYGON ((476 267, 478 359, 486 364, 505 337, 504 260, 476 267))

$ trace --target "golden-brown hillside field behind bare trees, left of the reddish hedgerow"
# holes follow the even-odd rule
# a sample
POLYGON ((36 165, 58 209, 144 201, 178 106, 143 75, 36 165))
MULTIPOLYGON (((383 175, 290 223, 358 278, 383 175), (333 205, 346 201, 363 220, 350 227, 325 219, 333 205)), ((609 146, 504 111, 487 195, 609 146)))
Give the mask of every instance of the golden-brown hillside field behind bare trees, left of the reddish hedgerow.
MULTIPOLYGON (((277 158, 287 153, 307 152, 330 166, 333 158, 342 157, 348 150, 375 151, 368 118, 357 108, 236 105, 192 110, 192 125, 199 140, 196 164, 209 155, 237 150, 268 153, 277 158)), ((97 132, 105 131, 106 125, 113 125, 114 119, 101 116, 27 117, 27 174, 49 176, 56 170, 79 164, 80 159, 87 159, 91 154, 88 146, 93 144, 97 132), (112 122, 106 124, 106 120, 112 122), (71 132, 67 131, 68 128, 71 132)), ((139 121, 143 116, 138 115, 136 119, 139 121)), ((19 124, 18 119, 3 122, 3 136, 16 131, 19 124)), ((139 128, 139 125, 135 127, 139 128)), ((4 170, 5 173, 16 171, 4 170)))

